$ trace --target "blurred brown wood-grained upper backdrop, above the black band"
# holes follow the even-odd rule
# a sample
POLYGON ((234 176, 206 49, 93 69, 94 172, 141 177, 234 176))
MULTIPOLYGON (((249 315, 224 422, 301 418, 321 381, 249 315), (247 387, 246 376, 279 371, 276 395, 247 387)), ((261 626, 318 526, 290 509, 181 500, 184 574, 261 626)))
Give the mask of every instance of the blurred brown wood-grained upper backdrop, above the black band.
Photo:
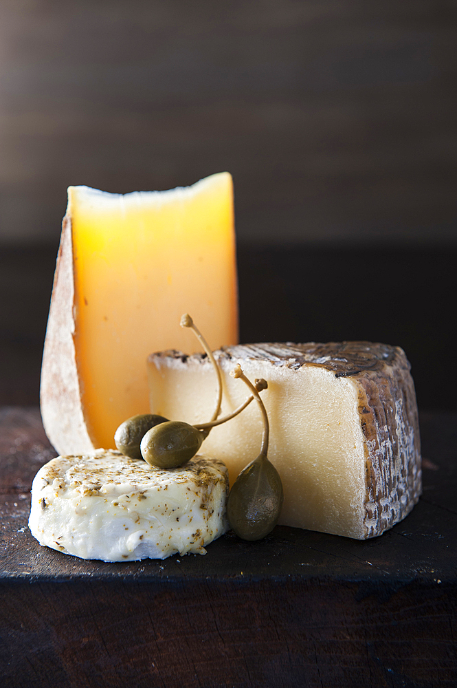
POLYGON ((456 242, 457 12, 443 0, 0 6, 0 238, 58 239, 69 184, 227 169, 260 244, 456 242))

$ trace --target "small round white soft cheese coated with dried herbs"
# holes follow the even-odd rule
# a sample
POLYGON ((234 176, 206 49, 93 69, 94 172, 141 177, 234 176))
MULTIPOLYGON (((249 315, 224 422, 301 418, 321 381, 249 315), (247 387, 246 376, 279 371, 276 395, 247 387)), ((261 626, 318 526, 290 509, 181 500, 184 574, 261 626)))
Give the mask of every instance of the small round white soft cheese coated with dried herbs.
POLYGON ((197 455, 161 471, 118 451, 58 456, 32 484, 29 527, 41 545, 81 559, 206 554, 227 530, 227 469, 197 455))

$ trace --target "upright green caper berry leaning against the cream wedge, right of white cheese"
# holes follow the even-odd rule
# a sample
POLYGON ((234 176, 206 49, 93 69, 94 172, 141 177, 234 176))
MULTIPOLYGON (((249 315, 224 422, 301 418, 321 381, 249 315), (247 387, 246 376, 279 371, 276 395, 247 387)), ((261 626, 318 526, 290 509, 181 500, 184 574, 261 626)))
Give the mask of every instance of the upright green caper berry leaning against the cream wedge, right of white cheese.
POLYGON ((278 523, 283 497, 278 471, 260 454, 241 471, 230 490, 230 528, 243 540, 262 539, 278 523))

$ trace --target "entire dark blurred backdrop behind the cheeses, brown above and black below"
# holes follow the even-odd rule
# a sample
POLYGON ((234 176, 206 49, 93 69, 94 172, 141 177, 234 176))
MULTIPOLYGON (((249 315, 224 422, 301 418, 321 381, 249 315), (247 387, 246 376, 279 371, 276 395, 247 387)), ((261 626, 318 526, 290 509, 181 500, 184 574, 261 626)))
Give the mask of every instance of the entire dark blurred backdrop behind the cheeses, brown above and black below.
POLYGON ((69 184, 234 176, 242 341, 401 345, 455 409, 454 1, 0 4, 0 403, 38 403, 69 184))

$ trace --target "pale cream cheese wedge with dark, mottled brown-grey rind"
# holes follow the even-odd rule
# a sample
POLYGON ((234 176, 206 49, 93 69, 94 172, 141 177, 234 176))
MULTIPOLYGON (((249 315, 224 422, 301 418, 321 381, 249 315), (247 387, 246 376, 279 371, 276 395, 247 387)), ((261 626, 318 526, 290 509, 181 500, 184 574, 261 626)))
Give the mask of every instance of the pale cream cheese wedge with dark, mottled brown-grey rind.
MULTIPOLYGON (((247 397, 230 377, 240 363, 265 378, 268 456, 284 487, 280 524, 366 539, 407 515, 421 494, 419 424, 410 365, 399 347, 368 342, 254 344, 214 353, 223 371, 222 414, 247 397)), ((210 417, 214 372, 181 352, 148 360, 153 413, 191 424, 210 417)), ((230 482, 260 449, 252 403, 212 429, 203 451, 222 460, 230 482)))

